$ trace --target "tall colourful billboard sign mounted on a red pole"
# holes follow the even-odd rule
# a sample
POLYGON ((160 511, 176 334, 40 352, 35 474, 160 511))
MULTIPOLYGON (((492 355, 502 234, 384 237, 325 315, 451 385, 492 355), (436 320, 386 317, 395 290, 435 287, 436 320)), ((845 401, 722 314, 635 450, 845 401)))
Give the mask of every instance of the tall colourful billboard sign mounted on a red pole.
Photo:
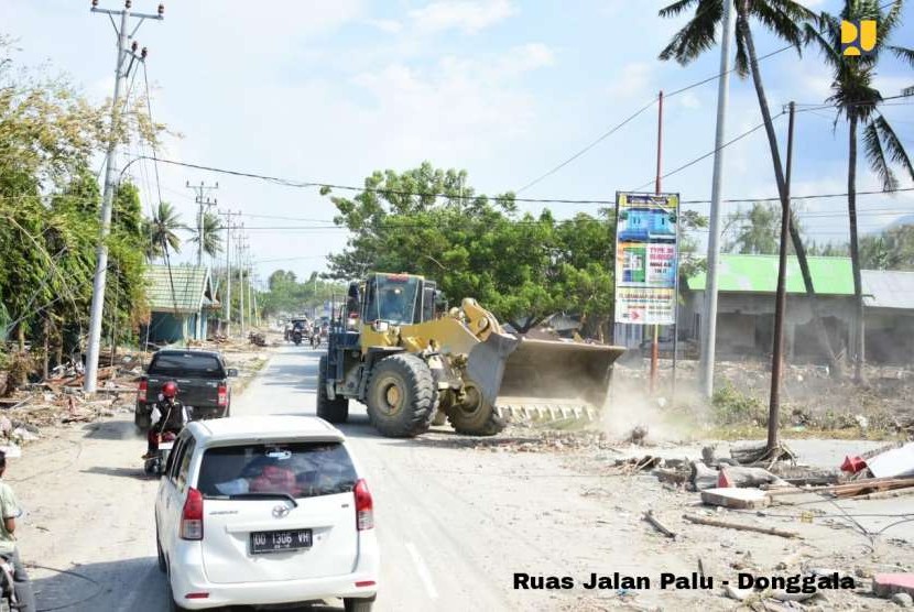
POLYGON ((616 323, 675 323, 678 222, 678 194, 616 194, 616 323))

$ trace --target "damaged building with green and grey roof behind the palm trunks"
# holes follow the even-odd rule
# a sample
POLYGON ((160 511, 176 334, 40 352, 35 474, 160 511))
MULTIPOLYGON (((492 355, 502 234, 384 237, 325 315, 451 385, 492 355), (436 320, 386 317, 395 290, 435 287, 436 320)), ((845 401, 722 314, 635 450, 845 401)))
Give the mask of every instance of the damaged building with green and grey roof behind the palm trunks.
MULTIPOLYGON (((809 256, 819 310, 839 357, 853 346, 853 275, 849 258, 809 256)), ((867 360, 914 361, 914 272, 861 271, 867 360)), ((698 340, 705 310, 705 274, 684 280, 679 338, 698 340)), ((721 254, 718 275, 717 356, 768 359, 773 347, 777 255, 721 254)), ((784 349, 794 362, 824 362, 813 310, 795 256, 787 260, 784 349)))

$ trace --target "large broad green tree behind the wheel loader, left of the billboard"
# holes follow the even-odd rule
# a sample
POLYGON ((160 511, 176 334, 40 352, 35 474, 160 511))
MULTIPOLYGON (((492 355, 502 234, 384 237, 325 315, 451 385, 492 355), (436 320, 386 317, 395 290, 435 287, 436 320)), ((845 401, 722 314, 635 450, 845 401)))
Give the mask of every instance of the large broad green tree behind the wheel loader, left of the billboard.
POLYGON ((370 270, 422 274, 437 280, 453 303, 475 297, 522 332, 558 310, 606 323, 609 215, 568 221, 547 210, 522 215, 513 194, 477 195, 466 172, 427 162, 403 173, 376 172, 364 186, 352 198, 331 198, 336 222, 351 232, 347 248, 328 258, 333 277, 370 270))

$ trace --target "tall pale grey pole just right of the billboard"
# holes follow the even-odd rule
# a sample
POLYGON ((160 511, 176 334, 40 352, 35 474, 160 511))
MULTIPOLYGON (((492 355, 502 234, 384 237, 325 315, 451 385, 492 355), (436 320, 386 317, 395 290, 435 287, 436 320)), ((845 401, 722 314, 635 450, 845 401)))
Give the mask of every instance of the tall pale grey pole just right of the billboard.
POLYGON ((733 39, 733 3, 723 2, 723 23, 720 33, 720 80, 717 84, 717 129, 714 140, 714 177, 711 178, 711 208, 708 223, 708 273, 705 282, 705 313, 701 326, 701 360, 699 364, 701 392, 714 395, 714 360, 717 342, 717 274, 720 264, 720 195, 723 181, 723 138, 727 123, 727 103, 730 97, 730 42, 733 39))

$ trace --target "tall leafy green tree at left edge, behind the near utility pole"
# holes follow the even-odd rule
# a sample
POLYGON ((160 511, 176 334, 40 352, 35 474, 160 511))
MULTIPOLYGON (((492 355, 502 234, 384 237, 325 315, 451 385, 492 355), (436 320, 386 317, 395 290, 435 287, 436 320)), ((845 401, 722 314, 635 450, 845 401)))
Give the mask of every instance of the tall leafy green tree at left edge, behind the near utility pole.
MULTIPOLYGON (((112 134, 108 108, 20 68, 10 50, 0 37, 0 312, 20 347, 29 340, 37 356, 43 340, 46 358, 65 331, 78 342, 87 324, 101 199, 89 167, 112 135, 150 142, 161 127, 130 109, 112 134)), ((140 210, 126 185, 109 239, 110 288, 123 299, 108 304, 106 320, 127 323, 143 308, 140 210)))

